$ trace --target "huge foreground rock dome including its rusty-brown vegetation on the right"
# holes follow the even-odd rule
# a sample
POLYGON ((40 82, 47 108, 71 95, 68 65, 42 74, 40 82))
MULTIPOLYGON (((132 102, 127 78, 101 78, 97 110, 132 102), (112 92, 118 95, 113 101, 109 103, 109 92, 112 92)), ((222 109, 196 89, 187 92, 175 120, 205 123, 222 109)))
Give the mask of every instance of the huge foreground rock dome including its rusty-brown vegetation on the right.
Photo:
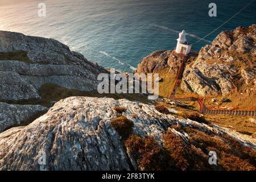
POLYGON ((0 170, 39 170, 42 151, 47 170, 228 169, 233 163, 255 169, 254 142, 216 125, 159 113, 153 105, 70 97, 30 125, 0 134, 0 170), (120 115, 115 106, 133 122, 128 139, 111 124, 120 115), (218 167, 209 165, 209 150, 217 151, 218 167), (245 150, 248 155, 241 156, 245 150))

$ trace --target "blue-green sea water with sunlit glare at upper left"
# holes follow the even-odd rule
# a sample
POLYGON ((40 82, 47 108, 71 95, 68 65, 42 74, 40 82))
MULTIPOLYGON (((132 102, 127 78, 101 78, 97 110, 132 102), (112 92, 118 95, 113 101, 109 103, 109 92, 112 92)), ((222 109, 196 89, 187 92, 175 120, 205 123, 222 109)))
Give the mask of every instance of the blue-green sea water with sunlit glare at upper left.
MULTIPOLYGON (((0 30, 57 39, 105 68, 131 72, 152 51, 174 49, 178 33, 195 43, 251 0, 0 0, 0 30), (46 3, 46 17, 38 4, 46 3), (217 5, 209 17, 208 5, 217 5)), ((199 50, 222 30, 256 23, 255 1, 219 30, 192 46, 199 50)))

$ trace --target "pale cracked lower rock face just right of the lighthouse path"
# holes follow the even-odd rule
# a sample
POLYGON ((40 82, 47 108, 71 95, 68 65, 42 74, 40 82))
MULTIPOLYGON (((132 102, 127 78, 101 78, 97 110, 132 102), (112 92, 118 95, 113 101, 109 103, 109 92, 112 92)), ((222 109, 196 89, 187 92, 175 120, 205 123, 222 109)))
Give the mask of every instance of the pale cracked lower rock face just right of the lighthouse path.
POLYGON ((233 73, 225 64, 193 64, 183 73, 181 89, 195 92, 201 96, 207 94, 228 94, 233 88, 230 75, 233 73))

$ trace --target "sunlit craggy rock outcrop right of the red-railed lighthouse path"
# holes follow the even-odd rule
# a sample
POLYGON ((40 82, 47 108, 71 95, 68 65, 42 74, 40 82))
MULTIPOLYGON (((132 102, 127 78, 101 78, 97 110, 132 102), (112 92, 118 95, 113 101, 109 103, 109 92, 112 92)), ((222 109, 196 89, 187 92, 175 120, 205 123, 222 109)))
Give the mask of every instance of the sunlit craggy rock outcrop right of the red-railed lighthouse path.
MULTIPOLYGON (((181 89, 201 96, 229 94, 236 88, 236 81, 240 77, 241 82, 247 85, 255 78, 255 55, 255 24, 250 27, 237 27, 233 31, 223 31, 211 45, 201 48, 193 65, 185 68, 181 89), (238 54, 242 54, 243 58, 238 54), (249 56, 246 57, 247 55, 249 56), (239 65, 244 60, 247 61, 244 64, 249 65, 246 71, 239 65)), ((250 86, 253 89, 254 83, 250 86)))

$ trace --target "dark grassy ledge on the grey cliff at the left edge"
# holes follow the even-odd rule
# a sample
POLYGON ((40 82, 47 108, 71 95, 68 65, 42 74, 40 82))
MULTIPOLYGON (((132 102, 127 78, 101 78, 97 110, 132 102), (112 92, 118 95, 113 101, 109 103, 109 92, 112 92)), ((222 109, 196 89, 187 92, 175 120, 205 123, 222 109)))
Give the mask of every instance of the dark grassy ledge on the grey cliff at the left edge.
POLYGON ((0 61, 2 60, 16 60, 24 63, 32 63, 30 59, 28 59, 26 51, 0 52, 0 61))

